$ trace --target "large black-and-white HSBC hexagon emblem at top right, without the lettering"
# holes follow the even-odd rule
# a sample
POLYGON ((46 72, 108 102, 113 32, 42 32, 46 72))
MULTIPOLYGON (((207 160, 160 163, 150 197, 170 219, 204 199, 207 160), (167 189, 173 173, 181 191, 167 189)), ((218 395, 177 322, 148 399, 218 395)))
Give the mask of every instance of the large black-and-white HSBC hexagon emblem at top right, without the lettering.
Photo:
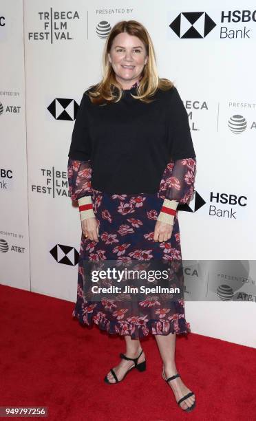
POLYGON ((205 38, 216 23, 206 12, 182 12, 169 25, 179 38, 205 38))

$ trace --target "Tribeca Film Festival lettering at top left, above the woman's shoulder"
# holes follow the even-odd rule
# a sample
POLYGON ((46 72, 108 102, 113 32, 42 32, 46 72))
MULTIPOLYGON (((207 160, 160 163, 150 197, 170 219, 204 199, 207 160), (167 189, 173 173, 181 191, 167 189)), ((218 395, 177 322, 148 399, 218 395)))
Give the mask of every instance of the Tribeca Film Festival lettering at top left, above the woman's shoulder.
POLYGON ((38 12, 40 27, 28 32, 29 41, 72 41, 70 25, 80 19, 77 11, 57 11, 50 8, 47 12, 38 12))

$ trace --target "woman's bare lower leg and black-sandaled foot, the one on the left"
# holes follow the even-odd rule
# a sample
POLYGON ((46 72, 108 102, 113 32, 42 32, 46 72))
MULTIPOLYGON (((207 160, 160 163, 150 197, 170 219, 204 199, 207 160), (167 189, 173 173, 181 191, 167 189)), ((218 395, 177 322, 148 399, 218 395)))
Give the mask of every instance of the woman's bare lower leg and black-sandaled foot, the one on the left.
MULTIPOLYGON (((126 352, 125 355, 129 358, 136 358, 141 352, 141 345, 140 341, 138 339, 131 339, 131 336, 125 335, 125 343, 126 343, 126 352)), ((138 359, 138 363, 142 363, 142 361, 145 360, 145 354, 142 352, 140 358, 138 359)), ((134 361, 127 361, 121 358, 120 364, 116 365, 114 367, 114 371, 116 373, 116 377, 118 380, 122 380, 123 376, 125 376, 125 373, 127 370, 134 365, 134 361)), ((109 382, 114 383, 116 380, 114 379, 114 376, 111 374, 111 371, 107 374, 107 378, 109 379, 109 382)))

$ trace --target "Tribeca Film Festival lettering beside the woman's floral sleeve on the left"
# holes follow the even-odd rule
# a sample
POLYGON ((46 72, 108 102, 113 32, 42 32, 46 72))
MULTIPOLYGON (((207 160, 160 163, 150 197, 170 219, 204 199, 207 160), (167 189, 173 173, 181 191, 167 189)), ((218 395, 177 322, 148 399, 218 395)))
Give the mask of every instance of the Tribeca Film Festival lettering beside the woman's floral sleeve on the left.
POLYGON ((70 197, 66 171, 58 171, 53 166, 52 169, 41 168, 41 175, 45 183, 43 185, 32 184, 32 192, 52 195, 53 198, 56 196, 70 197))

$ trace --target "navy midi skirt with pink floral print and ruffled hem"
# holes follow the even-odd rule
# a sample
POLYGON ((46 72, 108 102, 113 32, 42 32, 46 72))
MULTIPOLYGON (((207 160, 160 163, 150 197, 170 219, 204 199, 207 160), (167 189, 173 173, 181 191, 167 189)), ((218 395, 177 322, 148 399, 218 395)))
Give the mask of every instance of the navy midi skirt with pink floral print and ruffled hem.
MULTIPOLYGON (((93 189, 93 208, 99 222, 99 241, 82 234, 78 259, 77 301, 72 316, 81 325, 95 323, 109 334, 142 338, 150 334, 189 333, 190 325, 184 314, 184 278, 179 272, 178 283, 182 298, 167 299, 164 294, 149 294, 142 301, 116 301, 103 297, 90 301, 85 292, 88 261, 116 261, 118 264, 160 260, 182 262, 180 230, 175 216, 171 239, 153 241, 156 219, 162 207, 159 193, 111 195, 93 189)), ((181 263, 180 263, 181 264, 181 263)), ((168 296, 168 294, 167 294, 168 296)))

